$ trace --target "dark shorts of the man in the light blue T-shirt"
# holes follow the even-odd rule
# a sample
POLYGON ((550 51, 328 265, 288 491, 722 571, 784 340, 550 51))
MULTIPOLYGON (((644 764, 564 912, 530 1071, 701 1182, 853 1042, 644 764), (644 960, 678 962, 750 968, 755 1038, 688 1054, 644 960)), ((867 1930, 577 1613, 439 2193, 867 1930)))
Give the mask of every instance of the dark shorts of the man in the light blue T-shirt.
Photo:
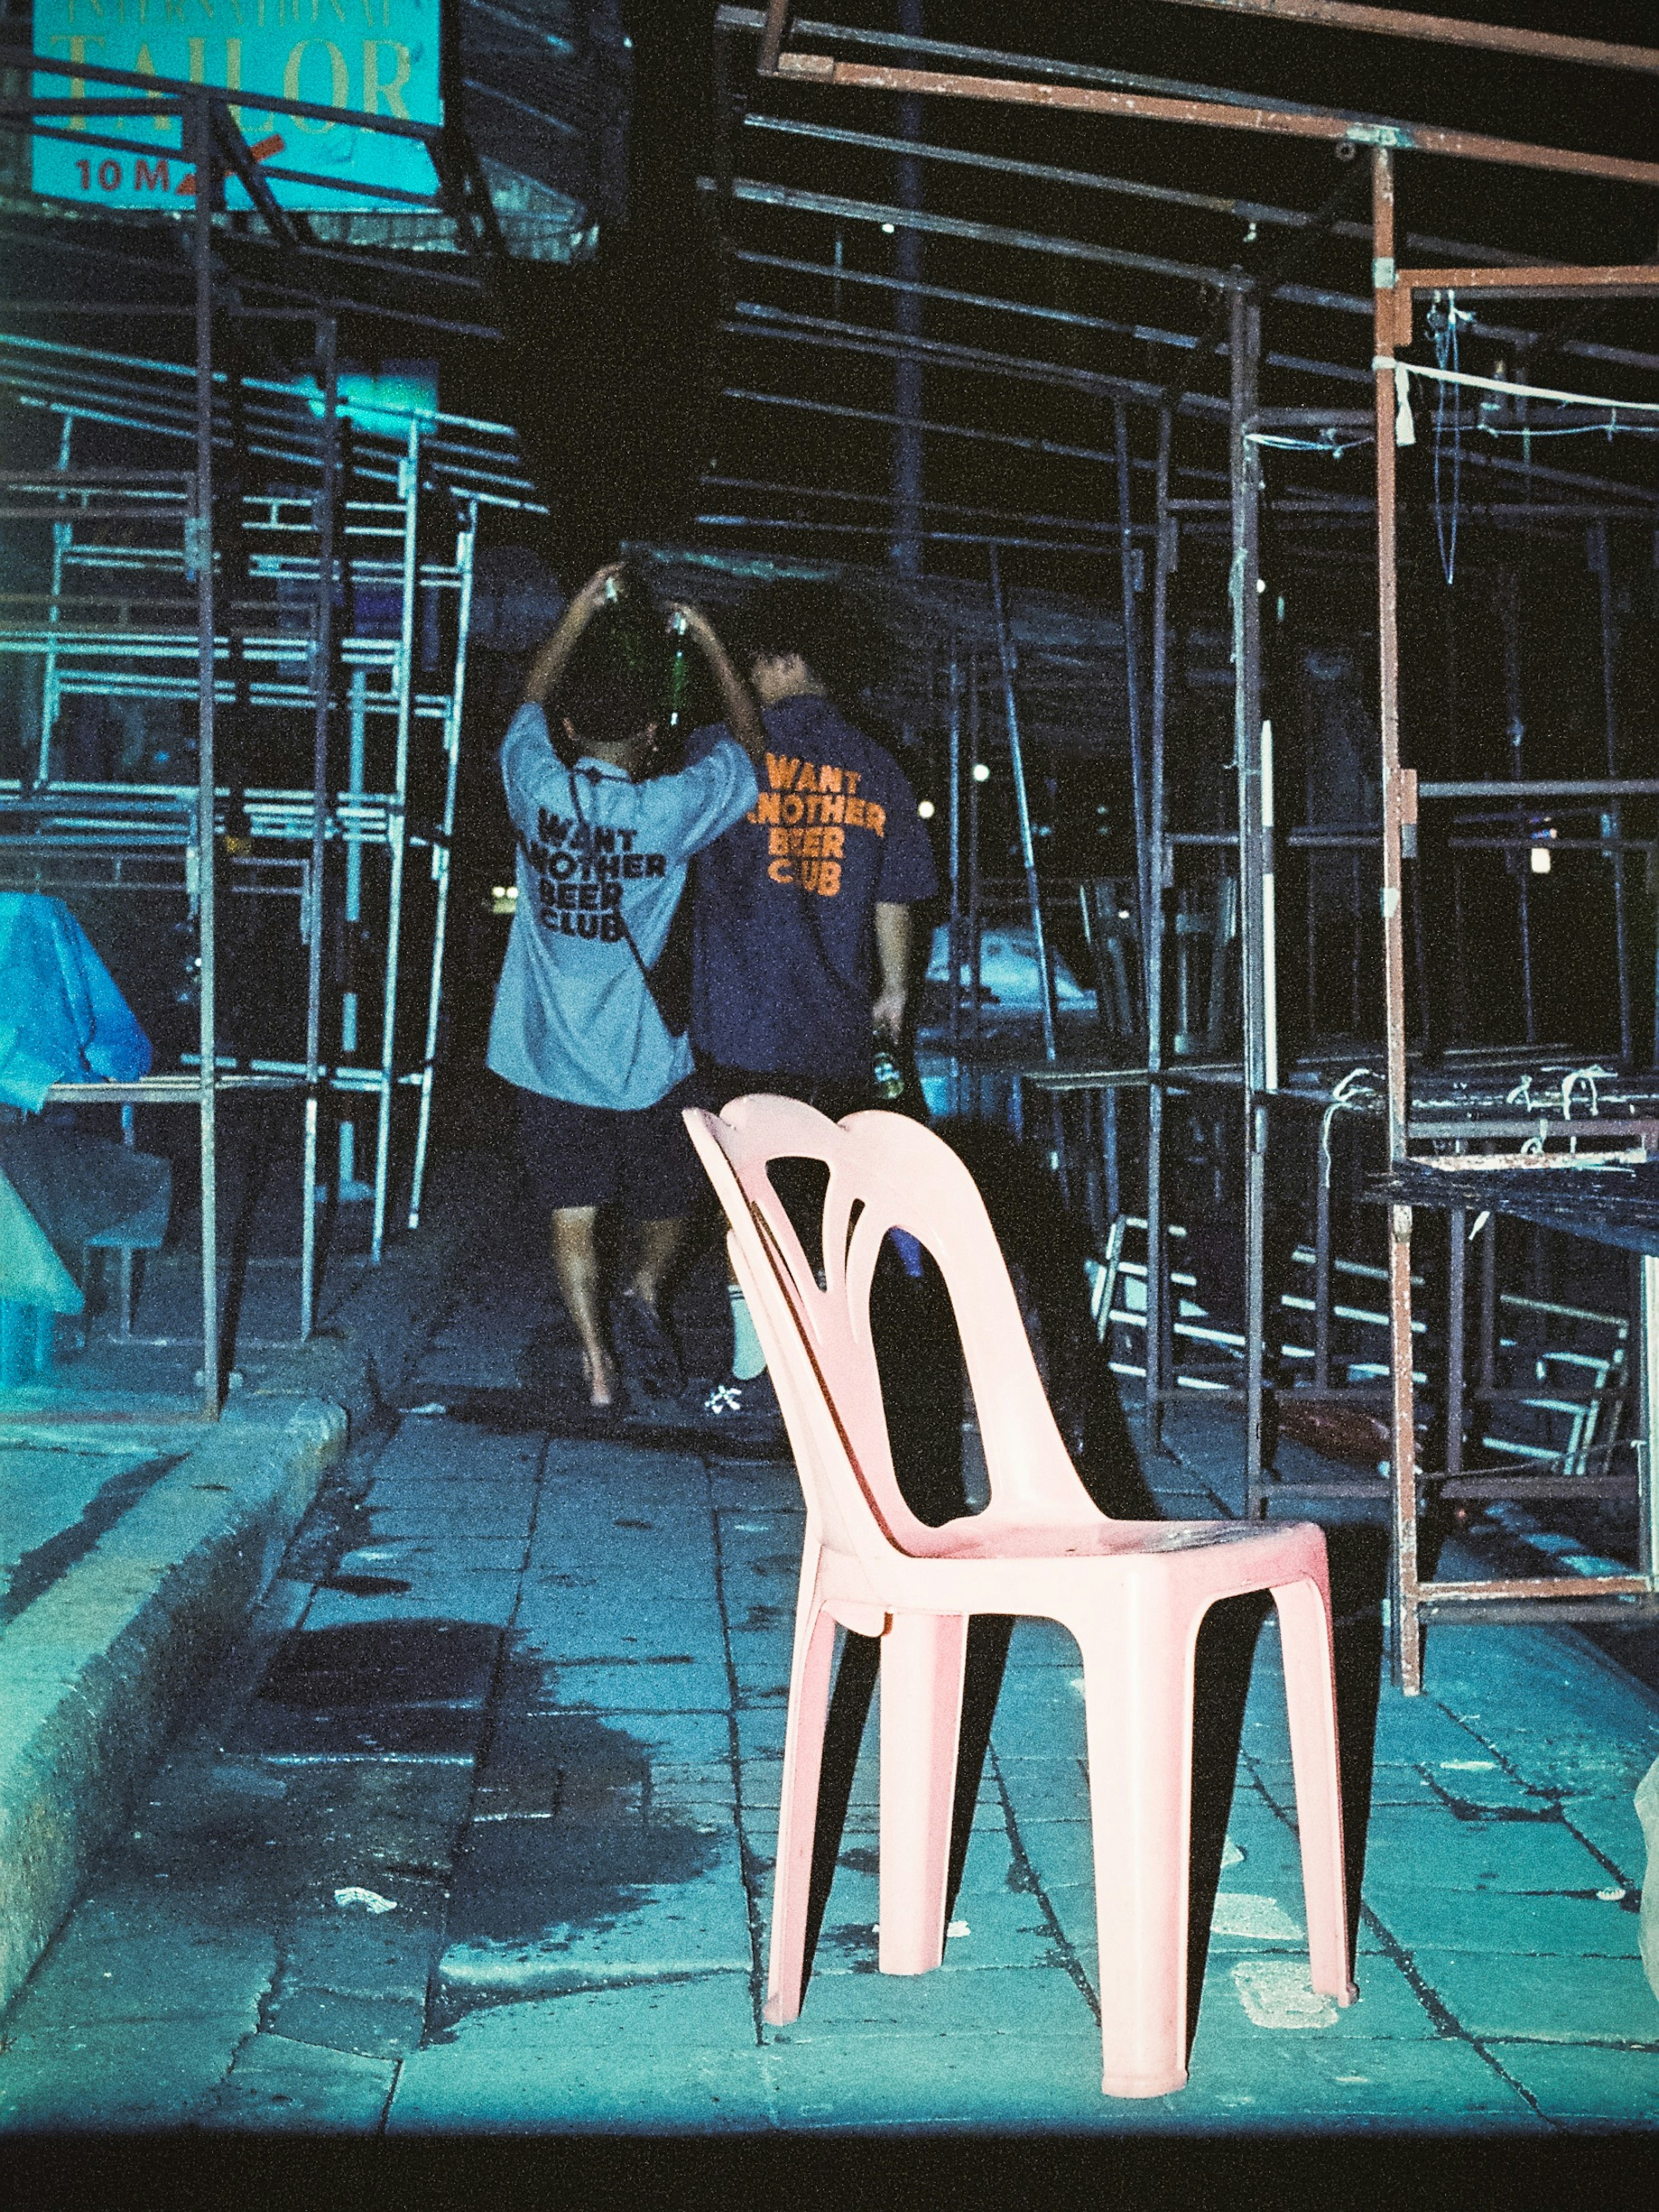
POLYGON ((708 1197, 708 1177, 679 1110, 699 1102, 695 1075, 633 1113, 520 1091, 518 1141, 538 1208, 622 1206, 635 1221, 692 1212, 708 1197))

